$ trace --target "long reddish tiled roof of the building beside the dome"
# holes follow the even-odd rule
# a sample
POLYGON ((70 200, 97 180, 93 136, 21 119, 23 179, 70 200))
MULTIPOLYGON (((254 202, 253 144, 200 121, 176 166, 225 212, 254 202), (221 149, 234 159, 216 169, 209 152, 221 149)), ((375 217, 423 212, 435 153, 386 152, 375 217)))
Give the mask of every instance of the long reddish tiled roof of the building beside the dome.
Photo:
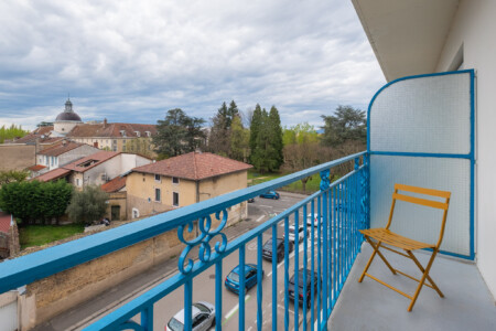
POLYGON ((87 137, 103 137, 103 138, 121 138, 129 137, 136 138, 140 132, 140 137, 148 137, 147 131, 151 136, 157 134, 155 125, 143 125, 143 124, 130 124, 130 122, 109 122, 96 124, 96 125, 78 125, 67 134, 67 137, 72 138, 87 138, 87 137), (126 136, 121 134, 125 132, 126 136))

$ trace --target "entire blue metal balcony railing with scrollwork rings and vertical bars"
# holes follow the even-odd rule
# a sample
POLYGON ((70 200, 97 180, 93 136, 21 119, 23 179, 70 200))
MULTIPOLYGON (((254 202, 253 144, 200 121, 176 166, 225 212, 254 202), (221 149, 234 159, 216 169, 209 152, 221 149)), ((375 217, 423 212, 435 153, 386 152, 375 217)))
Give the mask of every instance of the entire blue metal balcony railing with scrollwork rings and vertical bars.
MULTIPOLYGON (((272 330, 282 328, 282 323, 284 330, 289 330, 290 327, 299 330, 300 324, 302 324, 303 330, 309 328, 314 330, 315 323, 317 330, 325 329, 327 319, 363 241, 358 228, 368 226, 368 190, 367 156, 365 152, 356 153, 270 182, 6 261, 0 264, 0 292, 176 228, 180 241, 185 244, 180 257, 180 271, 121 308, 108 313, 86 330, 153 330, 154 303, 180 287, 184 289, 184 327, 185 330, 191 330, 193 325, 194 278, 212 266, 215 266, 214 292, 217 314, 215 325, 216 330, 222 330, 223 261, 230 254, 236 253, 240 265, 238 329, 244 330, 246 327, 246 246, 251 241, 256 241, 257 246, 257 330, 261 330, 265 320, 270 320, 272 330), (355 169, 331 183, 330 170, 353 160, 355 160, 355 169), (227 223, 227 209, 229 206, 316 173, 321 174, 321 191, 231 242, 227 241, 223 229, 227 223), (311 222, 309 222, 309 209, 312 215, 311 222), (215 217, 219 221, 219 225, 214 229, 211 228, 213 224, 212 214, 215 214, 215 217), (194 222, 197 222, 200 235, 193 239, 185 238, 184 232, 192 233, 194 222), (278 281, 277 254, 278 226, 281 225, 284 228, 283 284, 278 281), (302 238, 300 238, 298 231, 295 233, 293 253, 290 252, 290 225, 293 225, 296 229, 300 226, 303 227, 302 238), (262 271, 263 234, 269 231, 272 237, 272 292, 265 293, 262 286, 259 285, 262 284, 265 276, 262 271), (211 241, 215 242, 213 247, 211 247, 211 241), (200 248, 196 263, 188 256, 190 253, 194 252, 192 250, 194 247, 200 248), (291 270, 291 265, 293 270, 291 270), (300 274, 301 268, 304 271, 300 274), (291 293, 290 271, 294 277, 294 286, 292 287, 294 292, 291 293), (302 281, 299 279, 300 275, 302 281), (310 282, 308 277, 310 277, 310 282), (299 284, 303 286, 300 287, 299 284), (278 288, 282 288, 284 292, 283 321, 278 320, 280 317, 278 288), (294 300, 290 298, 290 295, 294 300), (271 298, 270 310, 263 310, 265 297, 271 298), (300 316, 300 301, 302 303, 302 316, 300 316), (290 321, 291 306, 293 306, 294 311, 292 323, 290 321), (268 311, 271 312, 268 313, 268 311), (310 320, 308 319, 309 313, 310 320)), ((163 325, 159 329, 163 329, 163 325)))

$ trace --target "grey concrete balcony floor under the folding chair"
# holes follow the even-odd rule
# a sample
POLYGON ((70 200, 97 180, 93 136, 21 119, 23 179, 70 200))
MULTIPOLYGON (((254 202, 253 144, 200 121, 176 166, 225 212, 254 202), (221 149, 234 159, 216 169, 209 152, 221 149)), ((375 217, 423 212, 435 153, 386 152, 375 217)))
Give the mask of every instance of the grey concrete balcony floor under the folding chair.
MULTIPOLYGON (((444 298, 423 287, 413 310, 408 312, 408 298, 369 277, 358 282, 371 252, 370 245, 364 244, 328 321, 330 330, 496 330, 495 301, 475 264, 439 255, 430 276, 444 298)), ((420 278, 412 260, 381 252, 393 268, 420 278)), ((427 265, 425 253, 413 254, 427 265)), ((416 281, 392 275, 378 256, 368 274, 408 295, 417 287, 416 281)))

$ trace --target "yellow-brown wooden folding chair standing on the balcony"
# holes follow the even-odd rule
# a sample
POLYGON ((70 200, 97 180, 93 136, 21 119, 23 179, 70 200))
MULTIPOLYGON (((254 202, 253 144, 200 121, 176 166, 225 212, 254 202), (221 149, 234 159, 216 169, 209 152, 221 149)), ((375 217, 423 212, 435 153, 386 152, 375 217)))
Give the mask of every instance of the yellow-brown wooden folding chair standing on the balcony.
POLYGON ((444 225, 446 223, 446 215, 448 215, 448 207, 450 205, 450 197, 451 197, 451 192, 445 192, 445 191, 438 191, 438 190, 431 190, 431 189, 422 189, 422 188, 416 188, 416 186, 409 186, 409 185, 401 185, 401 184, 395 184, 395 193, 392 193, 392 204, 391 204, 391 211, 389 213, 389 221, 388 224, 386 225, 385 228, 369 228, 369 229, 360 229, 360 233, 365 236, 365 239, 370 244, 370 246, 374 248, 374 253, 371 254, 367 266, 364 269, 364 273, 362 274, 360 278, 358 279, 358 282, 362 282, 362 280, 364 280, 365 276, 370 277, 371 279, 382 284, 384 286, 397 291, 398 293, 409 298, 411 300, 410 306, 408 307, 408 311, 411 311, 413 308, 413 305, 416 303, 417 298, 419 297, 420 290, 422 288, 422 286, 428 286, 432 289, 434 289, 439 296, 441 298, 444 297, 444 295, 441 292, 441 290, 438 288, 438 286, 434 284, 434 281, 432 280, 432 278, 429 276, 429 270, 431 269, 432 263, 434 261, 435 255, 439 252, 439 246, 441 245, 441 242, 443 239, 443 235, 444 235, 444 225), (416 196, 411 196, 411 195, 405 195, 405 194, 400 194, 398 193, 398 190, 400 191, 405 191, 405 192, 412 192, 412 193, 418 193, 418 194, 423 194, 423 195, 431 195, 431 196, 438 196, 438 197, 443 197, 445 199, 444 202, 439 202, 435 200, 428 200, 428 199, 421 199, 421 197, 416 197, 416 196), (416 204, 420 204, 420 205, 424 205, 424 206, 430 206, 430 207, 434 207, 434 209, 440 209, 443 210, 443 221, 441 224, 441 229, 440 229, 440 234, 439 234, 439 239, 438 239, 438 244, 433 245, 433 244, 427 244, 427 243, 421 243, 421 242, 417 242, 413 241, 411 238, 408 237, 403 237, 399 234, 396 234, 391 231, 389 231, 389 226, 391 225, 391 221, 392 221, 392 213, 395 211, 395 204, 397 200, 401 200, 401 201, 406 201, 406 202, 410 202, 410 203, 416 203, 416 204), (389 246, 393 246, 397 247, 399 249, 403 249, 407 254, 402 253, 402 252, 398 252, 396 249, 392 249, 390 247, 387 247, 385 245, 389 245, 389 246), (419 267, 420 271, 422 273, 422 278, 419 280, 410 275, 407 275, 398 269, 395 269, 391 267, 391 265, 389 264, 389 261, 386 259, 386 257, 380 253, 379 248, 385 248, 388 250, 391 250, 393 253, 397 253, 399 255, 402 255, 405 257, 408 257, 410 259, 413 260, 413 263, 417 265, 417 267, 419 267), (411 253, 412 250, 416 249, 424 249, 424 248, 431 248, 432 249, 432 255, 431 258, 429 259, 429 263, 427 265, 425 268, 422 267, 422 265, 419 263, 419 260, 416 258, 416 256, 411 253), (393 275, 401 274, 410 279, 413 279, 416 281, 419 282, 419 286, 417 287, 417 290, 414 292, 413 296, 409 296, 402 291, 400 291, 399 289, 390 286, 389 284, 384 282, 382 280, 367 274, 368 268, 370 267, 370 264, 374 259, 374 257, 377 255, 379 255, 379 257, 384 260, 384 263, 386 264, 386 266, 388 266, 389 270, 391 270, 391 273, 393 275), (425 279, 429 281, 429 284, 425 284, 425 279))

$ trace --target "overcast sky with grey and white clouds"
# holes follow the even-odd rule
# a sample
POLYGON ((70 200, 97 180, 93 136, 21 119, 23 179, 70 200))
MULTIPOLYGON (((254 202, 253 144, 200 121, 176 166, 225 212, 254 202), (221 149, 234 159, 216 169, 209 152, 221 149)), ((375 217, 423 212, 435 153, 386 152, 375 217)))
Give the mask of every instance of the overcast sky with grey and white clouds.
POLYGON ((0 125, 155 124, 276 105, 284 126, 366 109, 386 83, 349 0, 0 2, 0 125))

